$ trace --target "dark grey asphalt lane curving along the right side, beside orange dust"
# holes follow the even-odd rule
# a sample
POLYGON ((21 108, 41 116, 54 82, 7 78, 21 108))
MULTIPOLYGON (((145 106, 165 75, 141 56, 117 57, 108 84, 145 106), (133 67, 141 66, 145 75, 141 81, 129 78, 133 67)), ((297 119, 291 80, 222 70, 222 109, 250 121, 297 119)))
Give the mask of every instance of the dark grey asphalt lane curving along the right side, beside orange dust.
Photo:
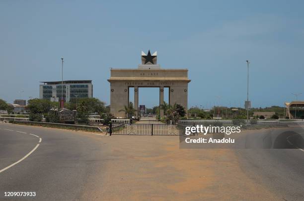
MULTIPOLYGON (((264 149, 235 149, 241 169, 256 183, 262 183, 275 192, 282 200, 303 201, 304 146, 301 137, 304 136, 303 128, 282 128, 271 132, 267 130, 260 132, 264 140, 269 142, 267 137, 271 136, 273 142, 264 143, 264 149), (295 144, 298 146, 295 147, 295 144), (269 149, 271 147, 276 149, 269 149)), ((252 137, 249 139, 251 142, 254 141, 252 137)))

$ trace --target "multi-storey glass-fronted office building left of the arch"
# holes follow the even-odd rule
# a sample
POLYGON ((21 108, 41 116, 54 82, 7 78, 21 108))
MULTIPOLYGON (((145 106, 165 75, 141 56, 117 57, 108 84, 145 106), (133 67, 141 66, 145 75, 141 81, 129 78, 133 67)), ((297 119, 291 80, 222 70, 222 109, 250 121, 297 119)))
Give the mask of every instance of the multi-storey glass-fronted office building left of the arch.
MULTIPOLYGON (((39 98, 54 101, 61 100, 62 81, 41 82, 39 98)), ((63 81, 63 99, 66 102, 81 98, 93 97, 93 85, 91 80, 68 80, 63 81)))

